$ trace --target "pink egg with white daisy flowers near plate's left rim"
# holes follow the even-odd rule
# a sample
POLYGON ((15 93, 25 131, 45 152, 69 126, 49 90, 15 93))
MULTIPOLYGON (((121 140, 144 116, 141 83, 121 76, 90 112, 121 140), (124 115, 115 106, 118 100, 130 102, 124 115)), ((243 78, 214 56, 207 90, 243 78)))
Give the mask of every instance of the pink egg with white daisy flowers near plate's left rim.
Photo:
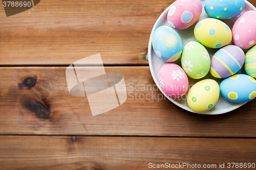
POLYGON ((170 98, 180 98, 188 89, 187 75, 177 64, 164 64, 159 74, 159 86, 170 98))

